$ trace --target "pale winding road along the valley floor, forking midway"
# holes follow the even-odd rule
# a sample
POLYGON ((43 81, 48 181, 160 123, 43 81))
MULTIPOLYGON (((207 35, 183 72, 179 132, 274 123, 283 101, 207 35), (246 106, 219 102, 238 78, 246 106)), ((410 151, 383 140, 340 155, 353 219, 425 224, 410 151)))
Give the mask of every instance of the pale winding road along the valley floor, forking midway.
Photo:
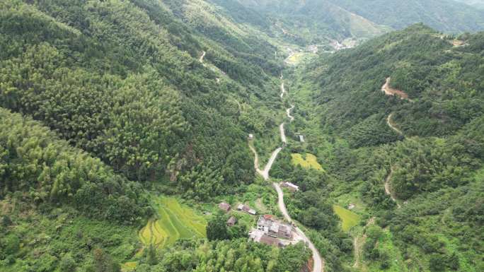
MULTIPOLYGON (((281 76, 282 80, 282 76, 281 76)), ((284 94, 286 93, 286 90, 284 88, 284 82, 281 84, 281 98, 284 97, 284 94)), ((291 116, 291 110, 294 109, 294 105, 290 107, 289 109, 286 110, 287 117, 292 121, 294 120, 294 117, 291 116)), ((281 141, 282 143, 285 144, 287 143, 286 139, 286 134, 284 133, 284 122, 280 124, 280 134, 281 134, 281 141)), ((277 155, 280 153, 282 150, 282 147, 277 148, 272 152, 272 155, 270 156, 269 161, 264 167, 264 170, 260 170, 259 167, 259 156, 257 154, 257 151, 255 148, 249 143, 249 148, 252 150, 254 153, 254 167, 255 171, 258 172, 258 174, 263 177, 265 180, 269 180, 269 172, 270 168, 272 167, 272 164, 275 162, 275 159, 277 158, 277 155)), ((277 191, 277 206, 279 207, 279 210, 281 211, 282 215, 284 215, 285 220, 287 220, 289 223, 292 223, 293 220, 291 216, 289 216, 289 213, 287 213, 287 208, 286 204, 284 203, 284 192, 282 191, 281 187, 277 182, 272 182, 272 186, 276 189, 277 191)), ((311 252, 313 254, 313 272, 324 272, 324 260, 321 258, 321 254, 319 254, 318 249, 314 246, 314 244, 309 240, 309 238, 304 234, 304 232, 299 228, 295 227, 296 233, 302 238, 304 242, 308 245, 309 249, 311 249, 311 252)))

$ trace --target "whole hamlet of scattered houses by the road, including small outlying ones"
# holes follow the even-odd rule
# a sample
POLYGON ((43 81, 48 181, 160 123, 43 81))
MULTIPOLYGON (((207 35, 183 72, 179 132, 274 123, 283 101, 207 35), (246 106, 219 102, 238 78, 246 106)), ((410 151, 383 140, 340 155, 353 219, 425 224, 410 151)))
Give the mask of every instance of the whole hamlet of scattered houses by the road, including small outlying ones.
MULTIPOLYGON (((299 190, 299 187, 291 182, 281 182, 280 185, 292 192, 299 190)), ((219 208, 224 211, 224 213, 229 213, 232 206, 229 203, 221 202, 219 203, 219 208)), ((258 215, 255 209, 243 203, 236 206, 236 211, 254 216, 258 215)), ((226 221, 226 225, 229 227, 234 226, 236 223, 237 219, 234 215, 231 215, 226 221)), ((274 215, 269 214, 259 215, 256 226, 252 227, 248 232, 248 236, 249 240, 253 242, 268 244, 275 247, 286 247, 289 244, 296 244, 302 240, 296 232, 294 225, 284 223, 282 220, 278 220, 274 215)))

